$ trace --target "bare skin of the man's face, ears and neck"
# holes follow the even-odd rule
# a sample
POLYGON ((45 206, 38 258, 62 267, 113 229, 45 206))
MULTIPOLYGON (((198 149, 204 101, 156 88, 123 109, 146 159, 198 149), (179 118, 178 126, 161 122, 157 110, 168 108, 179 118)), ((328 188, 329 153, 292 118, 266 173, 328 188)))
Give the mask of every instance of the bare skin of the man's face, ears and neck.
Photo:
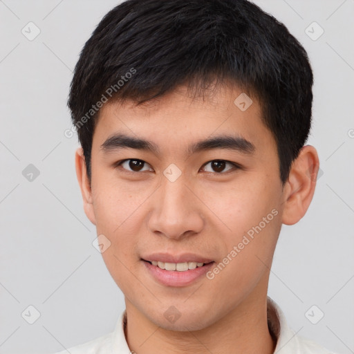
POLYGON ((106 103, 93 135, 91 186, 82 149, 76 151, 84 211, 97 234, 111 242, 102 257, 124 293, 126 339, 138 354, 274 352, 266 312, 272 257, 281 225, 297 223, 310 205, 319 160, 314 147, 303 147, 283 186, 261 107, 252 97, 253 104, 241 111, 234 104, 241 92, 219 87, 205 99, 192 99, 180 86, 142 106, 106 103), (100 146, 119 132, 155 142, 160 155, 131 148, 104 153, 100 146), (230 132, 252 142, 254 154, 185 153, 198 140, 230 132), (142 171, 132 171, 129 161, 114 167, 125 159, 146 163, 142 171), (218 171, 212 160, 241 168, 227 163, 218 171), (182 173, 173 183, 163 174, 171 163, 182 173), (163 286, 140 259, 158 251, 195 252, 218 264, 272 209, 277 216, 214 279, 163 286), (164 316, 170 306, 180 313, 174 323, 164 316))

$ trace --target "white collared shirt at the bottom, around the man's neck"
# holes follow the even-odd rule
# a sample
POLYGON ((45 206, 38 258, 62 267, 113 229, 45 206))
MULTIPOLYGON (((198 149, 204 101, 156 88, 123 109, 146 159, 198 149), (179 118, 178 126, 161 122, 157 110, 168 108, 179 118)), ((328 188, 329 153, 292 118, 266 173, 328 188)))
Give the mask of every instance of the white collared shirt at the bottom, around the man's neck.
MULTIPOLYGON (((268 297, 268 327, 277 337, 274 354, 335 354, 310 339, 300 337, 289 328, 286 318, 277 303, 268 297)), ((131 354, 124 336, 124 316, 126 310, 118 317, 112 333, 102 335, 79 346, 68 348, 55 354, 131 354)), ((139 353, 137 353, 139 354, 139 353)))

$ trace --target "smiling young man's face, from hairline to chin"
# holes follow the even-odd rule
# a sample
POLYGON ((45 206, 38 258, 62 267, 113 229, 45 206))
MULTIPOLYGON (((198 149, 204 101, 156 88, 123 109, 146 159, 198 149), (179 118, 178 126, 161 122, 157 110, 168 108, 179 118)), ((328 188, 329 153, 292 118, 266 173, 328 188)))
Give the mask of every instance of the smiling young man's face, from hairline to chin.
POLYGON ((180 87, 100 113, 85 211, 104 235, 102 257, 127 310, 162 328, 201 329, 267 291, 283 188, 261 107, 251 97, 241 110, 241 93, 192 99, 180 87), (205 265, 183 270, 196 261, 205 265))

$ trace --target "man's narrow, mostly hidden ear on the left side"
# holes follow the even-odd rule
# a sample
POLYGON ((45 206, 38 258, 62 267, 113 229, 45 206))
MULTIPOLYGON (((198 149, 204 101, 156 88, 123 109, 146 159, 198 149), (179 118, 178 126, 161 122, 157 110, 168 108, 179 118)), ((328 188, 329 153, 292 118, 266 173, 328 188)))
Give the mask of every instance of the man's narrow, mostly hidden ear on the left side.
POLYGON ((75 168, 77 181, 79 182, 81 189, 82 200, 84 202, 84 212, 91 223, 96 225, 96 218, 92 204, 91 185, 86 173, 86 162, 82 147, 79 147, 75 152, 75 168))

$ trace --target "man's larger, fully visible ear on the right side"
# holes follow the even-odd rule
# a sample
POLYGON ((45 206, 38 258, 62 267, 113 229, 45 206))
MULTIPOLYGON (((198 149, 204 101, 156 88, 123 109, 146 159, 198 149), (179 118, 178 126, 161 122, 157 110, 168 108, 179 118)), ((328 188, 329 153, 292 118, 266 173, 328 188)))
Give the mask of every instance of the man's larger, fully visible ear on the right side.
POLYGON ((306 145, 292 162, 284 187, 283 224, 293 225, 306 214, 315 193, 318 170, 317 151, 315 147, 306 145))

